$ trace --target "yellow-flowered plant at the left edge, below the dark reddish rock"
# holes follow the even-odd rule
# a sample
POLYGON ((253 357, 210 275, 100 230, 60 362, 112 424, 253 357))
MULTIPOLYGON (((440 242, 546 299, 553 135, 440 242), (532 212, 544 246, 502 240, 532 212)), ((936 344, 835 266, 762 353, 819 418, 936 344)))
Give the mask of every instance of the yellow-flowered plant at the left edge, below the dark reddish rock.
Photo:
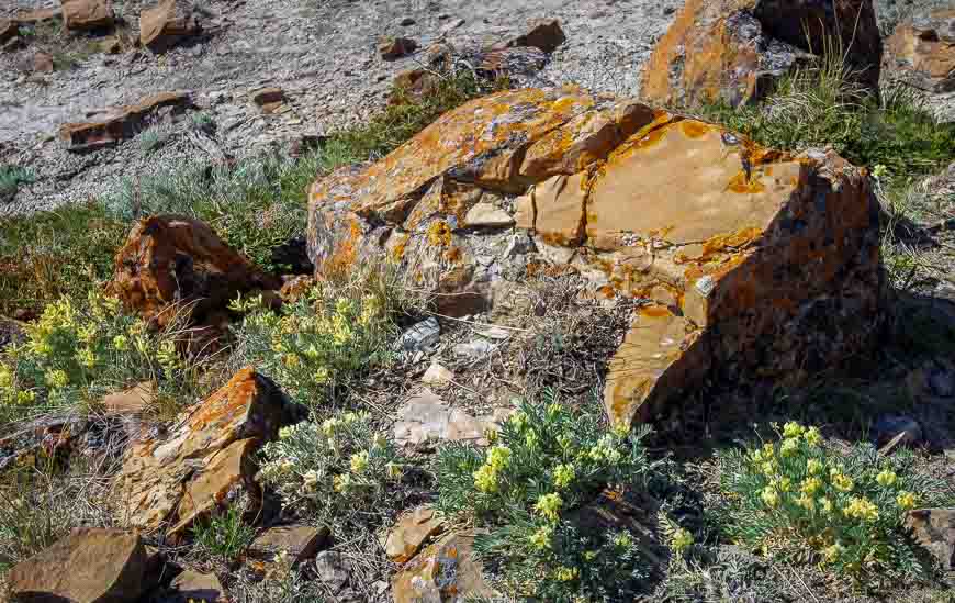
POLYGON ((64 297, 25 326, 26 340, 0 354, 0 425, 34 412, 94 403, 146 379, 178 387, 191 370, 176 349, 175 330, 151 333, 115 298, 64 297))

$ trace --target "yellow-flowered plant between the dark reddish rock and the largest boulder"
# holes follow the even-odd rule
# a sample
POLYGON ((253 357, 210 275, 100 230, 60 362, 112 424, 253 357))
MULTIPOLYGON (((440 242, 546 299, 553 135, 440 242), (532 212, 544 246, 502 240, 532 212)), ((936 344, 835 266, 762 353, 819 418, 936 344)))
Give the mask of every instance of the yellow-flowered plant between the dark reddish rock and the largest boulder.
POLYGON ((233 310, 247 313, 236 333, 237 356, 300 403, 334 400, 364 369, 389 358, 383 342, 394 334, 390 302, 363 290, 349 294, 315 284, 280 313, 265 308, 261 298, 234 302, 233 310))

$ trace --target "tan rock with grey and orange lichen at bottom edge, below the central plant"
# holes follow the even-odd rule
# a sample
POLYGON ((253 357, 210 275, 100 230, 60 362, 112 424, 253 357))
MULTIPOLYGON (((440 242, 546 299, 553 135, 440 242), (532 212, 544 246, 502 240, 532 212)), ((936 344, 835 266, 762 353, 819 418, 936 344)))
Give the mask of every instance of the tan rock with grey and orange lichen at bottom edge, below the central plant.
POLYGON ((495 596, 474 559, 474 532, 450 533, 392 579, 394 603, 463 603, 495 596))

